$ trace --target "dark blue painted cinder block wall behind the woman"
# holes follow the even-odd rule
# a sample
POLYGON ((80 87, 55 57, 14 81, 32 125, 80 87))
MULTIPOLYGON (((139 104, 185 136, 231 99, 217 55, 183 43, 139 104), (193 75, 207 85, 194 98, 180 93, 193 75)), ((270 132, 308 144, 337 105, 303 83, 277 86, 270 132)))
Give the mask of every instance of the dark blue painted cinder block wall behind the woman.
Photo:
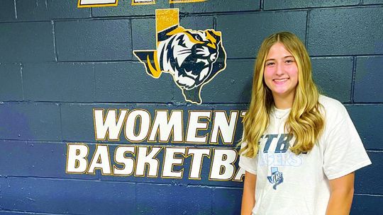
POLYGON ((66 143, 95 146, 92 108, 245 110, 257 49, 282 30, 305 42, 316 82, 345 104, 372 160, 356 173, 351 214, 381 214, 382 29, 381 0, 1 0, 0 214, 239 214, 240 182, 69 175, 66 143), (155 47, 157 8, 179 8, 185 28, 222 32, 227 67, 202 105, 132 54, 155 47))

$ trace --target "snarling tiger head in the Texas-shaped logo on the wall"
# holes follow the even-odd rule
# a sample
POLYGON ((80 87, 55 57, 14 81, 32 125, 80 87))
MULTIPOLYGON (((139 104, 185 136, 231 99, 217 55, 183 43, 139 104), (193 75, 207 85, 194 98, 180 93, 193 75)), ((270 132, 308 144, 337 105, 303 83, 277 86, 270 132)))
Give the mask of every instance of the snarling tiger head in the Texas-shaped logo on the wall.
POLYGON ((146 72, 159 78, 172 75, 185 100, 201 104, 201 88, 226 67, 221 32, 189 30, 172 25, 157 32, 157 50, 133 51, 146 72))

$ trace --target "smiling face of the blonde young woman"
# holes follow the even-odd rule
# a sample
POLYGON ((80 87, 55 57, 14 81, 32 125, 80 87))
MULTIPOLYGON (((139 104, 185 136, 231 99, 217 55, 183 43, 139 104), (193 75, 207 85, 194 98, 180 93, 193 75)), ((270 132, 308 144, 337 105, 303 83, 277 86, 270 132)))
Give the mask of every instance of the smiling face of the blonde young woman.
POLYGON ((280 42, 272 45, 267 54, 263 79, 272 91, 274 100, 294 98, 298 85, 298 66, 292 53, 280 42))

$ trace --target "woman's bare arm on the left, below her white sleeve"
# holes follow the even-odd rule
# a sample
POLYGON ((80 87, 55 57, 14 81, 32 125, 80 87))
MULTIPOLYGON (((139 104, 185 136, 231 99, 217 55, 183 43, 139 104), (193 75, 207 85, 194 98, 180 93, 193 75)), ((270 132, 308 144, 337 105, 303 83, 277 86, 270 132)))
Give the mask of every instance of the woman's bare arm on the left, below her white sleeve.
POLYGON ((243 197, 242 207, 240 209, 241 215, 251 215, 252 208, 255 205, 255 183, 257 181, 257 175, 245 173, 245 182, 243 183, 243 197))

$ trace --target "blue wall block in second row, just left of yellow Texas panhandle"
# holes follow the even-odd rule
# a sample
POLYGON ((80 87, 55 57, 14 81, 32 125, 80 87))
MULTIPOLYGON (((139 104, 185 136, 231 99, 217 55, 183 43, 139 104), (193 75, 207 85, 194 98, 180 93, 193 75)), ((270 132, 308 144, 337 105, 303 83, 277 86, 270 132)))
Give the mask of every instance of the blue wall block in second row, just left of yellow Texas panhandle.
POLYGON ((132 58, 130 21, 57 21, 59 61, 104 61, 132 58))

